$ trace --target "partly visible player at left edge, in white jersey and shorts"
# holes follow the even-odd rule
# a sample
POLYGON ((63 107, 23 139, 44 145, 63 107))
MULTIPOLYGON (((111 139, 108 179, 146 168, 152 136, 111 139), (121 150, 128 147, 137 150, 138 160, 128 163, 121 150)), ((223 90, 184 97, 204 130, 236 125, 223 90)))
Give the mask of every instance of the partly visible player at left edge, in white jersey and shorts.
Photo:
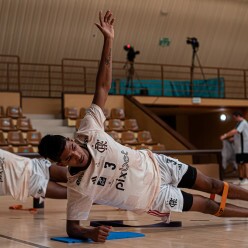
POLYGON ((15 200, 34 198, 66 199, 66 168, 52 165, 46 159, 30 159, 0 149, 0 195, 15 200))

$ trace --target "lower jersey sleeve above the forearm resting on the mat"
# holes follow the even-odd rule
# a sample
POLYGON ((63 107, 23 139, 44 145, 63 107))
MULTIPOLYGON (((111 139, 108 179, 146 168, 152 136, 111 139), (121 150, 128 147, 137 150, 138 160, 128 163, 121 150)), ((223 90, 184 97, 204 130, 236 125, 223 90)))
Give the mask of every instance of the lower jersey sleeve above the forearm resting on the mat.
POLYGON ((92 200, 73 189, 67 189, 67 220, 87 220, 92 200))

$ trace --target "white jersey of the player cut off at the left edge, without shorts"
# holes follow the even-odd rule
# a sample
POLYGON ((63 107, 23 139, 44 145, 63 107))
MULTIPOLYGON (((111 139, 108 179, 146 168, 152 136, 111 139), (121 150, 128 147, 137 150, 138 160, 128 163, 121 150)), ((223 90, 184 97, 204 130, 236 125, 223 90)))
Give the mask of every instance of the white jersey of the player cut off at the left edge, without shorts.
POLYGON ((32 160, 0 149, 0 195, 25 201, 29 193, 32 160))

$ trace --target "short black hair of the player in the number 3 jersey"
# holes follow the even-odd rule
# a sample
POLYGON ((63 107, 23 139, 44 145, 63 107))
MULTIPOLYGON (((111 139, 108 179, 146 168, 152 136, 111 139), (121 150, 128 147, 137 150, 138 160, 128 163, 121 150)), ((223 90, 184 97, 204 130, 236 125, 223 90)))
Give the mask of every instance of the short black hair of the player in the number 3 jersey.
POLYGON ((61 162, 60 156, 65 149, 66 138, 62 135, 46 135, 38 145, 39 154, 54 162, 61 162))

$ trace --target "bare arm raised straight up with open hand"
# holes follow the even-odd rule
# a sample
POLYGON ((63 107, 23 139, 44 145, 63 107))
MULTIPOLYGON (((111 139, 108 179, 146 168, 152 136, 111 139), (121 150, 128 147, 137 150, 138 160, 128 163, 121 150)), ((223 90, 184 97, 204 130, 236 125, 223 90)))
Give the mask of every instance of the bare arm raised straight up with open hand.
POLYGON ((102 32, 104 42, 101 61, 96 77, 96 90, 93 98, 93 103, 97 104, 103 109, 112 82, 112 44, 114 39, 114 18, 109 10, 105 13, 104 16, 100 11, 99 21, 100 23, 96 23, 96 26, 102 32))

